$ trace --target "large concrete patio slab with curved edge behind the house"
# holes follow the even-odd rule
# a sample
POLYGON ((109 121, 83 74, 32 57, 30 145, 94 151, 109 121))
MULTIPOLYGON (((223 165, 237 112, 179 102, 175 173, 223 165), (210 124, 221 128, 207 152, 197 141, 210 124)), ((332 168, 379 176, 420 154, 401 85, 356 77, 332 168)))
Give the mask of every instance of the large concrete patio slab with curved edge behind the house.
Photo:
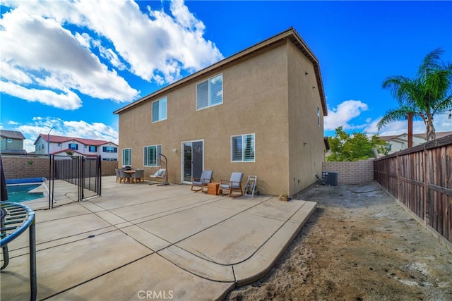
MULTIPOLYGON (((115 179, 102 197, 36 211, 38 300, 221 300, 265 276, 316 209, 115 179)), ((8 245, 1 300, 30 298, 25 233, 8 245)))

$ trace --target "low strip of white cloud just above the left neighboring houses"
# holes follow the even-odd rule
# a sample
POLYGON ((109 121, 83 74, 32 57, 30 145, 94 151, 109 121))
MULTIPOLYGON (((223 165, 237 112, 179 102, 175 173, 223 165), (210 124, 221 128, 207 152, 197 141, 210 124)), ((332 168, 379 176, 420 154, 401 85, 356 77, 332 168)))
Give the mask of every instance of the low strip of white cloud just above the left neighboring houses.
MULTIPOLYGON (((64 121, 61 118, 35 117, 28 124, 19 125, 11 130, 18 130, 25 136, 24 148, 27 152, 35 151, 35 141, 40 134, 81 137, 86 139, 106 140, 118 143, 118 131, 103 123, 88 123, 86 121, 64 121)), ((12 123, 10 123, 12 125, 12 123)))

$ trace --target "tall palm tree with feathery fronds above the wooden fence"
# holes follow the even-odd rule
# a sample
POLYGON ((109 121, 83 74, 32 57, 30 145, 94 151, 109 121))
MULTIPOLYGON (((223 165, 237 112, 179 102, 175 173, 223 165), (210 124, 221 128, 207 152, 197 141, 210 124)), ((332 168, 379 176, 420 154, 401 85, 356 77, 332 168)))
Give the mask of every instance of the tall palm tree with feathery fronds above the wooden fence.
POLYGON ((427 141, 434 140, 433 116, 444 113, 452 107, 452 65, 442 63, 441 49, 435 49, 425 56, 416 78, 390 76, 383 82, 383 89, 391 90, 399 107, 386 111, 378 123, 379 130, 393 121, 406 116, 421 118, 427 128, 427 141))

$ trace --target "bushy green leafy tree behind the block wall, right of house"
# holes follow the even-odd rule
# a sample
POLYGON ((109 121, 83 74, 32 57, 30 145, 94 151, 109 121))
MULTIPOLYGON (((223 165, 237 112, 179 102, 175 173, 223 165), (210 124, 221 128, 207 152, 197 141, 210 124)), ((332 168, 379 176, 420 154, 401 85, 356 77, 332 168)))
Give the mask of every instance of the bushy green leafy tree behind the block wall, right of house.
POLYGON ((335 129, 335 136, 328 137, 331 155, 326 161, 358 161, 374 157, 374 148, 387 154, 386 142, 377 135, 369 137, 365 133, 345 133, 343 127, 335 129))

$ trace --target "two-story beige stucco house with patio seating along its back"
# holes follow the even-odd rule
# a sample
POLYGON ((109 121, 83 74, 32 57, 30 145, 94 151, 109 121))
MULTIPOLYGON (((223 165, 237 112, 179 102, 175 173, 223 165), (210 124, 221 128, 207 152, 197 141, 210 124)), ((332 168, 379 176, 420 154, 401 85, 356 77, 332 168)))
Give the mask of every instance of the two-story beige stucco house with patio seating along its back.
POLYGON ((319 61, 290 28, 114 112, 119 166, 169 183, 203 169, 216 182, 257 176, 261 193, 295 194, 321 175, 326 101, 319 61))

